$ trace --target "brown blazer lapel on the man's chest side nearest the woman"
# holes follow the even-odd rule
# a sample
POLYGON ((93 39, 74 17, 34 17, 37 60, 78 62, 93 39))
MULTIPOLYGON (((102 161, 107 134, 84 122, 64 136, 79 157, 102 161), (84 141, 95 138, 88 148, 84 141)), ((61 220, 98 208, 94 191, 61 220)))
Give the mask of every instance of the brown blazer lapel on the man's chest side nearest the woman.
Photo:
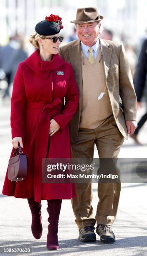
POLYGON ((71 65, 74 69, 76 77, 76 83, 79 87, 80 99, 79 99, 79 112, 82 109, 82 97, 83 97, 83 81, 82 81, 82 67, 81 67, 81 45, 80 40, 76 40, 74 45, 68 48, 69 58, 71 65))

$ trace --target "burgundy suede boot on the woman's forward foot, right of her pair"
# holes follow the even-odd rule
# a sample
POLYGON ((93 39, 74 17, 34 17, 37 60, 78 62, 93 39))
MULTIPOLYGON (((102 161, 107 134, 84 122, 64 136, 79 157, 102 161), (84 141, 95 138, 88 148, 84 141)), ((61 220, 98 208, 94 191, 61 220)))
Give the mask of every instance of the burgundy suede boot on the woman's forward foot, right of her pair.
POLYGON ((61 199, 48 200, 47 212, 48 217, 48 235, 47 235, 47 248, 48 250, 57 250, 58 244, 58 220, 61 210, 61 199))

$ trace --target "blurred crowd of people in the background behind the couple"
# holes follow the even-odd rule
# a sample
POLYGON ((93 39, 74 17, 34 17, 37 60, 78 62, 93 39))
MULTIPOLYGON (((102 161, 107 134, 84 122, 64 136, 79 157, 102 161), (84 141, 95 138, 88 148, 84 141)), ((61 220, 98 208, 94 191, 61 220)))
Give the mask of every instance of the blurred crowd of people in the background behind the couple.
MULTIPOLYGON (((129 61, 132 77, 134 80, 134 88, 137 94, 137 107, 142 106, 142 100, 147 102, 147 38, 140 39, 138 47, 132 46, 127 43, 125 37, 117 38, 113 31, 104 28, 101 31, 100 38, 106 40, 122 41, 124 44, 127 59, 129 61), (141 49, 141 51, 140 51, 141 49)), ((66 42, 76 40, 76 29, 73 27, 71 35, 67 38, 66 42)), ((8 44, 0 46, 0 95, 3 101, 11 97, 13 80, 15 77, 18 64, 24 61, 30 53, 25 46, 26 38, 23 35, 15 34, 10 37, 8 44), (5 86, 3 85, 5 81, 5 86), (11 88, 11 89, 10 89, 11 88)), ((33 49, 35 50, 35 48, 33 49)), ((138 133, 147 120, 147 112, 142 116, 138 123, 138 128, 131 136, 132 139, 138 144, 142 144, 138 139, 138 133)))

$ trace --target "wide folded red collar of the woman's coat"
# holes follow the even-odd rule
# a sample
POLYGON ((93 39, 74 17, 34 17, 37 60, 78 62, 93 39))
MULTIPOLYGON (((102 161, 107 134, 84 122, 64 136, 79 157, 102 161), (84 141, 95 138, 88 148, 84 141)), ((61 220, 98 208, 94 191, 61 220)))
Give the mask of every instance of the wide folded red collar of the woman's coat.
POLYGON ((53 60, 51 61, 42 61, 41 57, 39 56, 39 50, 37 49, 33 52, 33 54, 25 59, 25 63, 39 76, 47 79, 49 71, 58 69, 63 65, 64 61, 58 54, 53 55, 53 60))

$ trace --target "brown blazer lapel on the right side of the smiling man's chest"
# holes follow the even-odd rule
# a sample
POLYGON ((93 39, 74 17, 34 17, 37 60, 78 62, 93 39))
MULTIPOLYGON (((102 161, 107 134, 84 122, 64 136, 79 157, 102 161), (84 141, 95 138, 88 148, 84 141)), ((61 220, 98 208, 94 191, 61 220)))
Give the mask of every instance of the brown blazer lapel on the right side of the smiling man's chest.
POLYGON ((101 52, 103 55, 103 60, 104 60, 104 73, 105 73, 105 79, 107 82, 108 78, 108 71, 109 71, 109 64, 110 64, 110 59, 111 59, 111 54, 112 54, 112 49, 110 49, 108 46, 109 44, 106 43, 106 41, 103 41, 100 39, 100 44, 101 44, 101 52))

